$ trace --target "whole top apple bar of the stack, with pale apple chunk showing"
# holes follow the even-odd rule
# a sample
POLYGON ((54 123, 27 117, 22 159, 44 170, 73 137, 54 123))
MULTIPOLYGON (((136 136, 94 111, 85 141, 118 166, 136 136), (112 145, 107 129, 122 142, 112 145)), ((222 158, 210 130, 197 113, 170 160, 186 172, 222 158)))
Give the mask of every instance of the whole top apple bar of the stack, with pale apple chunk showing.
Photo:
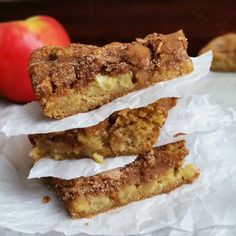
POLYGON ((44 115, 61 119, 190 73, 193 64, 186 49, 182 30, 104 47, 46 46, 31 54, 29 72, 44 115))

